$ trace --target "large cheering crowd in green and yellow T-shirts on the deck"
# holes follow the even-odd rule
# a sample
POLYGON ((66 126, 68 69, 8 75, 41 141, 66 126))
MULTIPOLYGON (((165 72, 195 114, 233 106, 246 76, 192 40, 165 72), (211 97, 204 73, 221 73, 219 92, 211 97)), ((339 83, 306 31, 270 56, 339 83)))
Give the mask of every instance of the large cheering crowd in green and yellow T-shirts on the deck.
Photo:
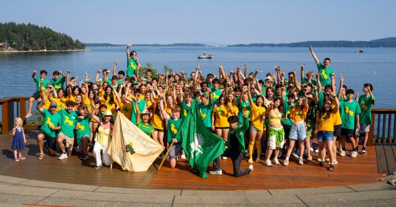
MULTIPOLYGON (((81 160, 89 158, 88 151, 93 150, 95 169, 110 165, 107 150, 115 114, 120 111, 160 145, 168 147, 174 143, 169 159, 170 167, 175 167, 179 156, 186 158, 175 135, 192 105, 199 108, 207 129, 226 143, 228 149, 221 158, 232 158, 235 176, 251 173, 253 162, 261 162, 261 158, 269 167, 281 165, 278 158, 283 158, 282 155, 282 165, 289 165, 290 156, 303 165, 304 160, 313 159, 314 137, 319 144, 319 167, 334 170, 337 156, 346 156, 346 140, 351 143, 352 158, 358 156, 359 150, 367 154, 375 100, 373 86, 364 84, 364 94, 355 96, 355 91, 347 88, 340 76, 336 87, 330 59, 320 62, 312 47, 309 51, 317 72, 306 72, 303 65, 298 78, 296 70, 286 73, 281 66, 275 66, 264 80, 256 77, 261 71, 249 71, 247 63, 243 69, 238 66, 236 71, 229 72, 219 66, 217 75, 203 75, 199 66, 189 77, 182 70, 153 75, 156 71, 148 69, 142 74, 137 53, 129 52, 130 47, 126 46, 126 71, 118 71, 115 61, 113 71, 99 69, 94 82, 85 73, 85 83, 77 84, 76 78, 70 77, 70 69, 66 74, 54 71, 51 80, 47 79, 47 71, 40 71, 40 76, 33 71, 36 92, 30 98, 26 118, 32 115, 36 100, 36 108, 43 115, 37 138, 39 160, 45 158, 46 140, 50 156, 56 156, 56 146, 61 149, 59 160, 72 156, 77 145, 81 160), (360 136, 364 138, 359 149, 360 136), (262 143, 266 146, 262 147, 262 143), (251 165, 241 171, 243 156, 251 165)), ((15 161, 24 159, 20 149, 25 138, 21 130, 21 120, 17 120, 12 132, 14 140, 18 140, 12 145, 15 161)), ((211 174, 222 174, 219 162, 220 159, 214 161, 211 174)))

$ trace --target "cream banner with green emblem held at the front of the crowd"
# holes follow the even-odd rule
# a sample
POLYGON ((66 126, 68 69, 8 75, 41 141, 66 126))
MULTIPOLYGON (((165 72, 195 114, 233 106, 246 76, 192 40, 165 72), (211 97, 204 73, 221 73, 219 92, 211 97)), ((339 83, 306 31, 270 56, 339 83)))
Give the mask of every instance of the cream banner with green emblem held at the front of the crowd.
POLYGON ((108 153, 123 170, 147 171, 162 151, 162 145, 118 112, 108 153))

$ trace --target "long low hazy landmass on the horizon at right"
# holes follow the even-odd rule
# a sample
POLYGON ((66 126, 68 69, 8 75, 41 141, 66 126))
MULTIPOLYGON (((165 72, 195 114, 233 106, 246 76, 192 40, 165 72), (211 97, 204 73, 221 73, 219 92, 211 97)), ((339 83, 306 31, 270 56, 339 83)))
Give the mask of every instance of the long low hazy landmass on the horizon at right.
POLYGON ((227 47, 396 47, 396 37, 382 38, 370 41, 306 41, 292 43, 252 43, 227 45, 227 47))

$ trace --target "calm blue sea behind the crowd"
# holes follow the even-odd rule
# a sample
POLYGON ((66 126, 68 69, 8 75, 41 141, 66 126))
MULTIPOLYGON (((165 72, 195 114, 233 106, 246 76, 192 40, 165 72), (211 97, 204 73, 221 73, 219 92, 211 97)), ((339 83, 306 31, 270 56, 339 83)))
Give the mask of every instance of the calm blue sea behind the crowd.
MULTIPOLYGON (((87 71, 94 80, 97 69, 112 69, 114 60, 118 60, 118 70, 126 69, 125 47, 89 47, 89 51, 77 52, 37 52, 37 53, 0 53, 0 98, 30 96, 35 84, 32 71, 45 69, 48 77, 52 71, 66 72, 72 68, 72 76, 83 80, 87 71)), ((218 73, 217 66, 223 65, 226 71, 236 69, 248 62, 249 70, 261 69, 259 78, 265 73, 274 73, 273 66, 279 65, 287 72, 300 70, 317 71, 308 48, 292 47, 133 47, 142 65, 153 64, 163 73, 164 66, 173 71, 195 70, 199 64, 203 74, 218 73), (198 60, 199 53, 212 53, 212 60, 198 60)), ((355 53, 357 48, 315 48, 322 61, 331 58, 331 67, 338 75, 344 76, 344 84, 355 91, 361 91, 364 83, 373 84, 376 96, 376 108, 395 108, 396 96, 396 49, 364 48, 364 53, 355 53)), ((298 72, 298 77, 300 73, 298 72)), ((338 85, 338 82, 337 82, 338 85)))

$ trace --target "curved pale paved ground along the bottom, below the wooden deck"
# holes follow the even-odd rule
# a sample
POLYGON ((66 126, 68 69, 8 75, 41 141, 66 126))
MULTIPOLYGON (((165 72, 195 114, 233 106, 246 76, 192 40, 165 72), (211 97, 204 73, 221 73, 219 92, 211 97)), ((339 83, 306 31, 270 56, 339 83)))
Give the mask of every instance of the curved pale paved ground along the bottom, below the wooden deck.
POLYGON ((1 206, 395 206, 376 182, 268 191, 195 191, 63 184, 0 175, 1 206))

